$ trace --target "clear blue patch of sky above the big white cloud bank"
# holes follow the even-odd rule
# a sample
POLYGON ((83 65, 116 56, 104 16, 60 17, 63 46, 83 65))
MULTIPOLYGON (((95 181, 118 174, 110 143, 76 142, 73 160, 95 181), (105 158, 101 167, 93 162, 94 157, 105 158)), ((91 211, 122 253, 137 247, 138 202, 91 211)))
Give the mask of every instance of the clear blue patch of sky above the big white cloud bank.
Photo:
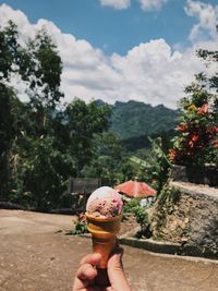
MULTIPOLYGON (((87 39, 107 54, 125 54, 135 44, 165 38, 170 45, 189 45, 189 33, 195 20, 184 12, 184 0, 168 1, 161 9, 144 11, 140 3, 118 10, 98 0, 8 0, 22 10, 31 22, 52 21, 63 33, 87 39)), ((208 2, 208 1, 207 1, 208 2)), ((214 2, 215 1, 209 1, 214 2)))

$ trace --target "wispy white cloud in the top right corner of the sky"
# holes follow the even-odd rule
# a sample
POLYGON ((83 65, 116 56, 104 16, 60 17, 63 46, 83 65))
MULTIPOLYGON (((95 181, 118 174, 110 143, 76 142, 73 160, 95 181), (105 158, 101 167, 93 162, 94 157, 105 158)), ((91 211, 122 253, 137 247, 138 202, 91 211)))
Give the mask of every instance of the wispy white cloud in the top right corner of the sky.
POLYGON ((196 17, 197 23, 190 33, 192 41, 217 37, 216 25, 218 24, 218 5, 187 0, 185 12, 189 16, 196 17))

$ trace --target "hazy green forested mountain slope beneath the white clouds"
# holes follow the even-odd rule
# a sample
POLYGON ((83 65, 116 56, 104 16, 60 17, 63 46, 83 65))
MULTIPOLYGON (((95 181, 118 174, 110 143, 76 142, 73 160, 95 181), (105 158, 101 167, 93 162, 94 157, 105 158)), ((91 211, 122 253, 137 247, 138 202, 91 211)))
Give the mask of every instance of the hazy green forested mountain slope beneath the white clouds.
POLYGON ((170 131, 178 123, 178 110, 164 105, 152 107, 138 101, 120 102, 112 106, 111 131, 122 140, 170 131))

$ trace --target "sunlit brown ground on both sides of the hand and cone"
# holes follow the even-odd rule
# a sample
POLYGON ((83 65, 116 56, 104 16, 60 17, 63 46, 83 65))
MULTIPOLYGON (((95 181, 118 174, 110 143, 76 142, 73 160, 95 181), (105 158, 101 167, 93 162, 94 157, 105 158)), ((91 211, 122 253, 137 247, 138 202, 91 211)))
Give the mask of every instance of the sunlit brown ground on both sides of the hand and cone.
MULTIPOLYGON (((72 217, 0 210, 0 290, 68 291, 90 240, 69 237, 72 217)), ((218 291, 218 262, 124 247, 133 291, 218 291)), ((122 291, 122 290, 120 290, 122 291)))

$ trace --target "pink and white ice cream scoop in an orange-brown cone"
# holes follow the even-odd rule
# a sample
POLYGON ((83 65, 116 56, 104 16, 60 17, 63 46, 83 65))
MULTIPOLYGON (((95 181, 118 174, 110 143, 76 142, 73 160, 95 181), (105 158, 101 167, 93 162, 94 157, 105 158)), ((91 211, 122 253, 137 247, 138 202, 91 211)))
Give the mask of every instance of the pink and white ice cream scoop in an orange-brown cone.
POLYGON ((107 268, 120 230, 122 204, 121 195, 108 186, 97 189, 87 201, 87 229, 92 233, 93 252, 102 257, 98 268, 107 268))

